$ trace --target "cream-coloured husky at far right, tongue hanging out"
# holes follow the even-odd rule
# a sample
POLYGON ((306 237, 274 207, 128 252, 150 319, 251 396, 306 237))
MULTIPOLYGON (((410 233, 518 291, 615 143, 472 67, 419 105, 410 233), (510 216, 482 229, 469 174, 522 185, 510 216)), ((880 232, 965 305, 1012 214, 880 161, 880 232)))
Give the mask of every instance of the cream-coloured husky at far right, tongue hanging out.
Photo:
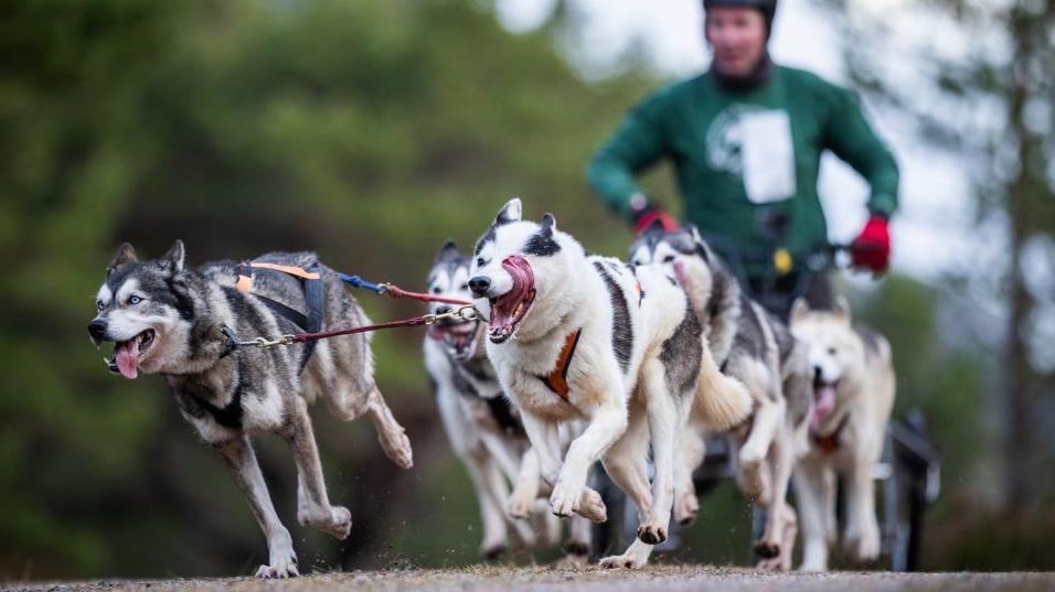
POLYGON ((880 334, 854 326, 840 298, 833 311, 791 308, 791 332, 809 347, 813 368, 810 450, 795 470, 795 495, 802 515, 802 566, 828 569, 828 541, 838 538, 835 475, 845 476, 846 530, 853 559, 880 555, 874 469, 894 406, 891 345, 880 334))

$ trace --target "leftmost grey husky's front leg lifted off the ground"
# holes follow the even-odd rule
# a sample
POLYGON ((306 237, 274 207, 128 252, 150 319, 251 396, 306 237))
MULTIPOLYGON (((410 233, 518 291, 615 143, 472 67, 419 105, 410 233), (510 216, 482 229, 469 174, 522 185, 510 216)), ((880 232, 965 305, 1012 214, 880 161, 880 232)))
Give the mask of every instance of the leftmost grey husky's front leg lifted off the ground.
POLYGON ((352 514, 348 508, 330 505, 308 405, 300 397, 294 397, 289 401, 288 413, 289 420, 283 435, 289 442, 297 464, 297 519, 301 525, 344 539, 352 528, 352 514))

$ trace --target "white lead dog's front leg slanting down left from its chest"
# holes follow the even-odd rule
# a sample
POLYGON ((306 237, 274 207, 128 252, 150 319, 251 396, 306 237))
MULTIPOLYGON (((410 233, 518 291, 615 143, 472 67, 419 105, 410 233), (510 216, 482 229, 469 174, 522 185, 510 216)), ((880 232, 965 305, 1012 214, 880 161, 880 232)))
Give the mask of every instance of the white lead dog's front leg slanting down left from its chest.
POLYGON ((550 507, 557 516, 579 513, 595 523, 607 519, 600 494, 586 486, 590 466, 627 429, 627 409, 617 401, 594 411, 583 433, 572 441, 564 466, 550 494, 550 507))

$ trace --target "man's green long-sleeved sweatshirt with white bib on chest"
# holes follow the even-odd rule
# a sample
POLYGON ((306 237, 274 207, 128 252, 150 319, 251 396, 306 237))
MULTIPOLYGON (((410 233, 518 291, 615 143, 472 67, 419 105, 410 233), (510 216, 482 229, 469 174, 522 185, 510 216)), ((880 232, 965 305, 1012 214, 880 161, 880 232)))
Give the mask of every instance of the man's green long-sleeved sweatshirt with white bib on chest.
POLYGON ((802 252, 827 243, 817 196, 821 152, 831 150, 872 186, 867 206, 897 207, 897 163, 849 90, 776 66, 760 87, 734 93, 710 74, 668 87, 630 111, 587 170, 590 186, 627 215, 635 174, 674 164, 682 217, 736 248, 802 252), (782 236, 766 219, 784 218, 782 236), (779 233, 778 233, 779 234, 779 233))

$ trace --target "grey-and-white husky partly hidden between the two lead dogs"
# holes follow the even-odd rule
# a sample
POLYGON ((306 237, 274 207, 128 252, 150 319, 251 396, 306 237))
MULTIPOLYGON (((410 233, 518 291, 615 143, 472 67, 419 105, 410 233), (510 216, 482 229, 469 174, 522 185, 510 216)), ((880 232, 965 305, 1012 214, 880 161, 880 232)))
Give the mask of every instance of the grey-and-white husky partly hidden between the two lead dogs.
MULTIPOLYGON (((471 299, 470 259, 448 241, 439 250, 428 276, 429 293, 471 299)), ((445 313, 450 304, 433 303, 430 312, 445 313)), ((483 346, 479 321, 446 321, 430 325, 425 338, 425 366, 436 394, 444 430, 455 453, 465 463, 477 492, 483 540, 480 553, 498 558, 505 548, 509 529, 530 545, 535 535, 528 523, 539 497, 539 462, 531 450, 520 413, 502 395, 494 367, 483 346), (510 495, 509 483, 516 485, 510 495), (509 512, 505 512, 507 505, 509 512)), ((555 541, 561 524, 543 517, 546 538, 555 541)), ((572 520, 565 552, 571 558, 589 555, 590 526, 585 518, 572 520)))

